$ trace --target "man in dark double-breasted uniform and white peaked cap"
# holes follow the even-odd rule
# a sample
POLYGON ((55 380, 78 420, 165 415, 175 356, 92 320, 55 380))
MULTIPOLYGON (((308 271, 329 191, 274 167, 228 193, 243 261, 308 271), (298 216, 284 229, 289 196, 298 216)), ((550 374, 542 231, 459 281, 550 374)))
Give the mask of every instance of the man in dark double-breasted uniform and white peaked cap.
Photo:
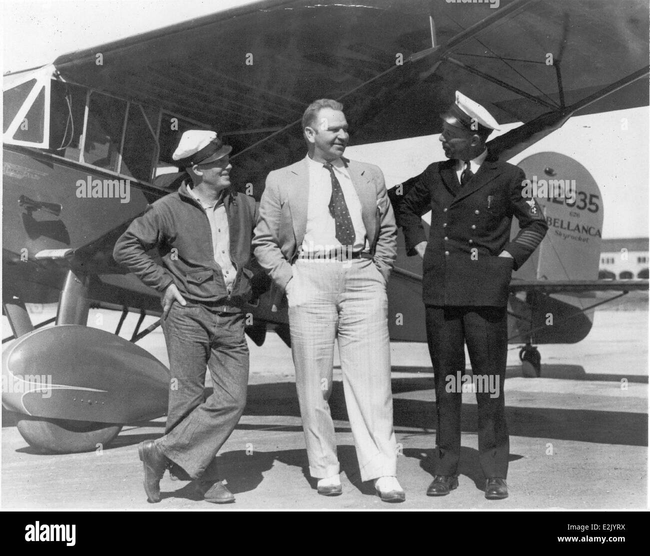
POLYGON ((510 451, 503 392, 508 286, 512 270, 523 265, 548 227, 537 202, 522 196, 524 172, 487 157, 487 137, 499 127, 486 109, 456 92, 456 102, 441 117, 440 140, 449 160, 404 182, 397 211, 407 254, 424 259, 422 296, 437 410, 434 481, 426 494, 444 496, 458 486, 458 386, 467 343, 479 387, 478 452, 486 498, 501 499, 508 496, 510 451), (421 217, 428 211, 427 243, 421 217), (510 241, 512 217, 521 231, 510 241), (486 384, 496 388, 480 388, 486 384))

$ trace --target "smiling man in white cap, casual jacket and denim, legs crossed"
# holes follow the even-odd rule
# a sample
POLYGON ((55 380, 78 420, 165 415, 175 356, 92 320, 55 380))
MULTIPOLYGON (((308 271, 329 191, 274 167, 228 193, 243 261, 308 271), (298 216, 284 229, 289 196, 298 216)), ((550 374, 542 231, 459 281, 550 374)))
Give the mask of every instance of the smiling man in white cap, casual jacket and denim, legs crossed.
POLYGON ((252 272, 245 267, 257 209, 252 197, 231 188, 231 150, 214 131, 185 131, 172 157, 188 178, 133 220, 113 252, 142 282, 164 292, 171 375, 166 429, 162 438, 138 446, 151 502, 161 499, 168 466, 199 481, 207 501, 235 500, 218 480, 214 457, 246 404, 242 305, 251 291, 252 272), (147 254, 152 248, 162 266, 147 254), (206 365, 214 391, 204 400, 206 365))

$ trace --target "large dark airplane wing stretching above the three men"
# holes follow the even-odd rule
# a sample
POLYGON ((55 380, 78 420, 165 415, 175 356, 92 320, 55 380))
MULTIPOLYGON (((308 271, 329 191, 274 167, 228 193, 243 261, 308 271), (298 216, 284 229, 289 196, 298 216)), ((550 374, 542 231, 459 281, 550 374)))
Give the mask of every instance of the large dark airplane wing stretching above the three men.
POLYGON ((297 124, 315 96, 344 101, 354 145, 438 133, 458 89, 499 122, 536 122, 494 145, 512 155, 513 143, 577 110, 647 105, 648 28, 643 0, 272 0, 76 51, 55 67, 224 133, 235 182, 253 183, 259 198, 269 170, 302 157, 297 124))

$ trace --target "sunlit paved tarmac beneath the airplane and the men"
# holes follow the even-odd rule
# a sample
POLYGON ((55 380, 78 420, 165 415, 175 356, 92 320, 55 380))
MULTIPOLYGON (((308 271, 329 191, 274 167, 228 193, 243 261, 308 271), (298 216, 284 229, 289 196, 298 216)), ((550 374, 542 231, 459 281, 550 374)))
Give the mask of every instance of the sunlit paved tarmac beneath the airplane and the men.
MULTIPOLYGON (((518 350, 513 346, 505 382, 511 435, 510 497, 503 501, 487 501, 482 492, 473 393, 463 394, 460 487, 446 497, 425 495, 432 479, 429 457, 435 440, 433 375, 426 345, 404 343, 394 343, 391 351, 395 431, 400 446, 398 479, 406 490, 406 502, 382 503, 371 483, 361 483, 338 367, 330 405, 343 495, 318 496, 307 471, 291 351, 271 333, 263 347, 250 344, 248 406, 218 457, 228 487, 237 498, 234 504, 207 503, 196 494, 192 483, 172 481, 168 475, 161 481, 161 503, 146 501, 136 446, 144 439, 160 436, 164 419, 124 427, 99 455, 42 455, 25 443, 3 414, 2 507, 645 509, 647 294, 638 304, 640 308, 635 307, 631 304, 619 310, 596 311, 591 333, 580 343, 540 346, 541 378, 523 377, 518 350)), ((97 314, 91 314, 91 323, 102 320, 101 326, 110 329, 116 315, 102 313, 99 319, 97 314)), ((159 331, 143 346, 166 363, 159 331)))

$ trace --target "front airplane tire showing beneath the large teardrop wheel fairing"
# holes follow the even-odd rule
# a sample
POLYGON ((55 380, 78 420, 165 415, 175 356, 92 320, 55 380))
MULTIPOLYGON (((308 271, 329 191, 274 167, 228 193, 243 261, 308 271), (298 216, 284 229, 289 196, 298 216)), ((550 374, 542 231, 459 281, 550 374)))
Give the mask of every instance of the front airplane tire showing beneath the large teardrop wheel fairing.
POLYGON ((44 453, 94 451, 98 444, 105 447, 122 430, 122 425, 113 423, 90 423, 27 415, 21 415, 18 419, 16 426, 22 437, 30 446, 44 453))

